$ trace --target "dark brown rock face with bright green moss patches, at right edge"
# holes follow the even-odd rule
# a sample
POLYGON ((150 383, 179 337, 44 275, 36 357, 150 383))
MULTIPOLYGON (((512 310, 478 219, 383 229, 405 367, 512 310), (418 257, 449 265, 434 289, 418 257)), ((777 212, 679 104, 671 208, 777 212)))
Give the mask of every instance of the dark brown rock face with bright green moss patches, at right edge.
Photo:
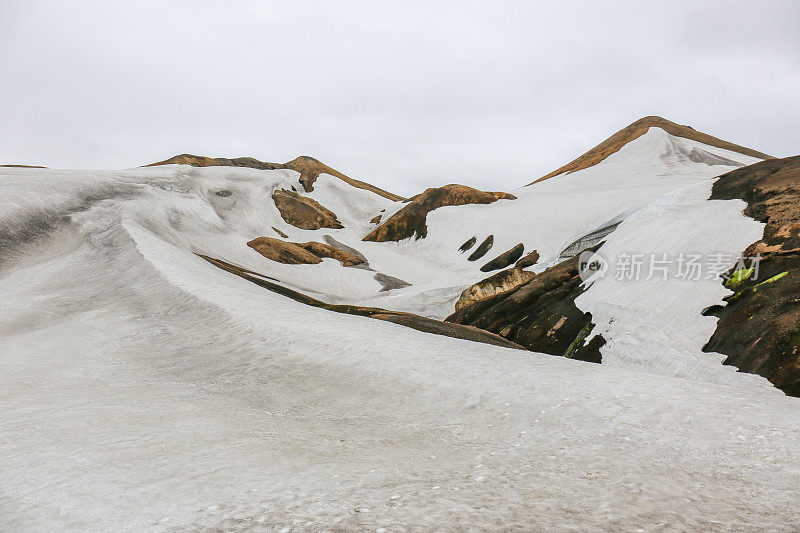
POLYGON ((766 227, 743 252, 761 254, 757 278, 755 271, 734 267, 725 281, 735 291, 727 305, 704 313, 719 318, 704 350, 723 353, 726 364, 800 396, 800 156, 724 174, 711 198, 746 201, 744 214, 766 227))

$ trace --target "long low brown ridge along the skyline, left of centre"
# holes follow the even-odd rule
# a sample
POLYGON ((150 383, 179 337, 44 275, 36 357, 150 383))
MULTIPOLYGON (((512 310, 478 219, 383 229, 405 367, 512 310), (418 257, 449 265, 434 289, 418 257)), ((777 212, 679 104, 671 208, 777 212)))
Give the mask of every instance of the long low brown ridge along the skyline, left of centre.
POLYGON ((311 192, 314 190, 314 182, 317 180, 320 174, 330 174, 331 176, 337 177, 353 187, 374 192, 375 194, 383 196, 384 198, 388 198, 389 200, 394 200, 397 202, 402 202, 405 200, 405 198, 402 196, 384 191, 383 189, 375 187, 374 185, 371 185, 365 181, 360 181, 349 176, 345 176, 338 170, 331 168, 325 163, 322 163, 321 161, 318 161, 317 159, 307 155, 301 155, 300 157, 292 159, 287 163, 268 163, 266 161, 259 161, 258 159, 254 159, 252 157, 235 157, 233 159, 229 159, 227 157, 205 157, 202 155, 180 154, 170 157, 169 159, 165 159, 164 161, 151 163, 145 166, 152 167, 155 165, 191 165, 193 167, 247 167, 258 170, 294 170, 295 172, 300 173, 300 183, 303 185, 303 189, 306 192, 311 192))

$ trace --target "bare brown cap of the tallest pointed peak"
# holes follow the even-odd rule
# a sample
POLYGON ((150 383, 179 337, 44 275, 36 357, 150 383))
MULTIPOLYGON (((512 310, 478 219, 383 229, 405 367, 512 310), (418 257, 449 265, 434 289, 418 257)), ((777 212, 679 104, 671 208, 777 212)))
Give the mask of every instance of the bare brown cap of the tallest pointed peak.
POLYGON ((539 178, 536 181, 529 183, 528 185, 533 185, 534 183, 538 183, 540 181, 552 178, 553 176, 557 176, 559 174, 570 174, 572 172, 577 172, 578 170, 583 170, 585 168, 594 166, 603 161, 611 154, 614 154, 617 151, 619 151, 620 148, 622 148, 629 142, 638 139, 639 137, 647 133, 647 131, 650 128, 661 128, 670 135, 674 135, 676 137, 691 139, 693 141, 701 142, 709 146, 715 146, 717 148, 722 148, 724 150, 738 152, 740 154, 748 155, 750 157, 757 157, 759 159, 772 158, 772 156, 769 156, 765 153, 758 152, 750 148, 745 148, 744 146, 739 146, 738 144, 733 144, 728 141, 723 141, 722 139, 718 139, 717 137, 712 137, 711 135, 708 135, 706 133, 699 132, 694 128, 692 128, 691 126, 676 124, 675 122, 672 122, 670 120, 658 116, 649 116, 640 118, 636 122, 633 122, 632 124, 622 128, 614 135, 612 135, 605 141, 601 142, 600 144, 598 144, 585 154, 581 155, 577 159, 570 161, 563 167, 554 170, 553 172, 539 178))

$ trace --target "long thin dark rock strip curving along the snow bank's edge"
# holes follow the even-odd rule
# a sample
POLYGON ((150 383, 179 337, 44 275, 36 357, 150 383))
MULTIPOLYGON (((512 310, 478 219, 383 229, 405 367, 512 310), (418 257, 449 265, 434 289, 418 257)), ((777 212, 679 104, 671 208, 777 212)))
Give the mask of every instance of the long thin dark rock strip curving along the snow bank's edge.
POLYGON ((272 278, 267 278, 266 276, 259 274, 258 272, 253 272, 252 270, 247 270, 245 268, 232 265, 231 263, 228 263, 226 261, 215 259, 213 257, 209 257, 206 255, 201 255, 200 257, 202 257, 209 263, 223 270, 226 270, 232 274, 240 276, 252 283, 255 283, 256 285, 264 287, 267 290, 270 290, 277 294, 282 294, 287 298, 291 298, 292 300, 304 303, 306 305, 310 305, 312 307, 321 307, 323 309, 327 309, 329 311, 333 311, 336 313, 346 313, 349 315, 359 315, 368 318, 374 318, 377 320, 386 320, 387 322, 393 322, 395 324, 416 329, 418 331, 424 331, 426 333, 444 335, 446 337, 464 339, 473 342, 481 342, 484 344, 492 344, 495 346, 502 346, 504 348, 514 348, 517 350, 524 350, 522 346, 515 344, 507 339, 504 339, 499 335, 495 335, 494 333, 483 331, 478 328, 473 328, 471 326, 463 326, 461 324, 442 322, 441 320, 434 320, 432 318, 426 318, 411 313, 403 313, 399 311, 387 311, 386 309, 381 309, 379 307, 361 307, 357 305, 329 304, 321 300, 317 300, 316 298, 311 298, 310 296, 307 296, 298 291, 289 289, 288 287, 284 287, 279 283, 274 283, 273 281, 269 281, 272 278))

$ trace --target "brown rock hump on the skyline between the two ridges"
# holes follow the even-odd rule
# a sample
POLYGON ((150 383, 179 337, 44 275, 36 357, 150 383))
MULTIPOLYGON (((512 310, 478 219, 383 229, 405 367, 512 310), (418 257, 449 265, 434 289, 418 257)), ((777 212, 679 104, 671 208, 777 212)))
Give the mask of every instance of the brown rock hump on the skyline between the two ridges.
POLYGON ((421 239, 428 235, 428 213, 446 205, 490 204, 501 198, 516 197, 504 192, 484 192, 465 185, 445 185, 427 189, 412 199, 383 224, 369 232, 363 240, 375 242, 400 241, 409 237, 421 239))

